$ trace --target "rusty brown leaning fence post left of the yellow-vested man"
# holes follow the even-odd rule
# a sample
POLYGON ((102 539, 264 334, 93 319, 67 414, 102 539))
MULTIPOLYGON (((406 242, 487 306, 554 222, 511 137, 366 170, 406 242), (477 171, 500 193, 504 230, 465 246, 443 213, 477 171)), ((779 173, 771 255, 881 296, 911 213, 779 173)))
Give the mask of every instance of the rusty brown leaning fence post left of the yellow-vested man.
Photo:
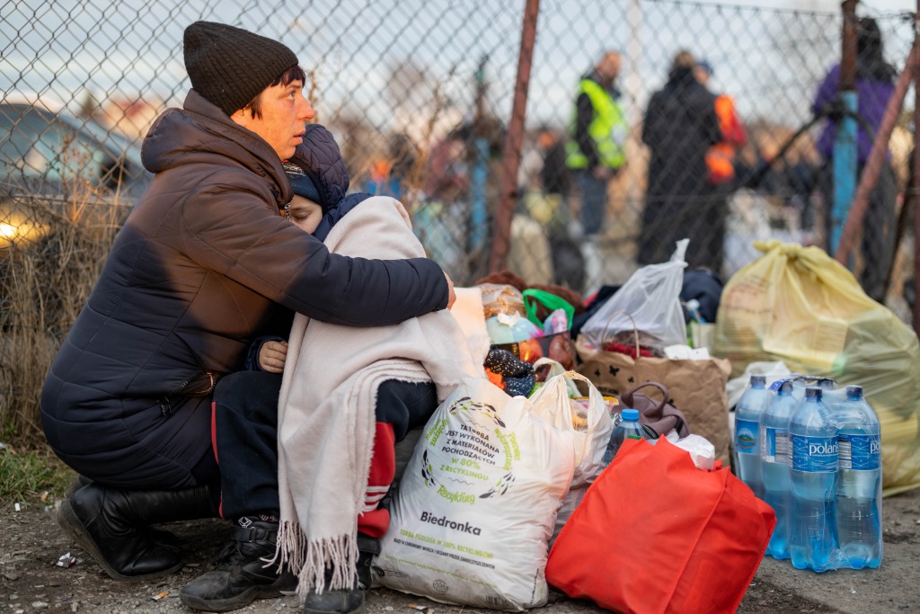
POLYGON ((530 86, 530 68, 534 59, 536 18, 540 14, 540 0, 527 0, 521 28, 521 51, 518 55, 517 83, 514 87, 512 119, 505 137, 504 159, 501 163, 501 192, 498 211, 495 213, 495 237, 489 271, 499 272, 508 262, 511 245, 512 214, 517 201, 517 174, 523 145, 523 119, 527 110, 527 89, 530 86))

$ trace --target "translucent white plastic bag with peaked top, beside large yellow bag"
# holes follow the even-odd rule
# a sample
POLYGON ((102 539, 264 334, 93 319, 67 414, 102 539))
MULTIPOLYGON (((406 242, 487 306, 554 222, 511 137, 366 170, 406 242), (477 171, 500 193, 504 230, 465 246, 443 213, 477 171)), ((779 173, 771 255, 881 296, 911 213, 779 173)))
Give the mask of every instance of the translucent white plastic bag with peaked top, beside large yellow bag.
POLYGON ((633 330, 635 321, 636 329, 659 338, 662 347, 686 345, 680 295, 687 265, 684 253, 689 242, 686 238, 677 241, 670 261, 647 264, 634 272, 581 327, 585 339, 594 347, 603 348, 604 342, 615 333, 633 330))

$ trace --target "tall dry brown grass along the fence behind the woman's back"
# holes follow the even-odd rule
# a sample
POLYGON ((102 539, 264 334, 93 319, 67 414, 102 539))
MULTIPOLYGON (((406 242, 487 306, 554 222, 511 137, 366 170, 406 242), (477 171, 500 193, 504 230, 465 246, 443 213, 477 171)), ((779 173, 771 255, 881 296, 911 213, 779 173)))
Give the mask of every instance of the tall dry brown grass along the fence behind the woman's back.
POLYGON ((0 204, 0 224, 30 223, 29 233, 0 248, 0 441, 20 448, 44 444, 39 399, 45 374, 127 213, 117 195, 86 185, 69 192, 0 204))

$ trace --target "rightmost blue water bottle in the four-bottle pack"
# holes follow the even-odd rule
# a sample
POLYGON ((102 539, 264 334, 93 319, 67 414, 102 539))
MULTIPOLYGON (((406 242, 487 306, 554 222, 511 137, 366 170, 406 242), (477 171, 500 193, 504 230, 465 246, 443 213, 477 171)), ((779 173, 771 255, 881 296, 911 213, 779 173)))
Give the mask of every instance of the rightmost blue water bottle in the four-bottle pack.
POLYGON ((881 430, 861 386, 834 405, 837 423, 837 539, 853 569, 881 564, 881 430))

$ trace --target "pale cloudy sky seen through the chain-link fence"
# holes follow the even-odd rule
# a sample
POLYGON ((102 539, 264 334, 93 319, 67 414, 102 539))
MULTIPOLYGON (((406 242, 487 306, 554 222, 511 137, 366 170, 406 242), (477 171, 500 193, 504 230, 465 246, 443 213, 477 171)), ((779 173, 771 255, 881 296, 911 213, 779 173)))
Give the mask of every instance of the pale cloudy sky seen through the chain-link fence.
MULTIPOLYGON (((435 95, 468 114, 483 60, 489 105, 508 117, 523 5, 524 0, 4 3, 0 92, 6 98, 57 99, 71 108, 87 91, 97 98, 140 94, 179 104, 189 87, 182 29, 204 18, 245 24, 291 46, 305 67, 316 69, 317 107, 327 118, 358 113, 393 129, 407 118, 424 119, 420 110, 430 107, 435 95), (403 64, 398 78, 395 64, 403 64)), ((637 17, 627 0, 541 0, 529 120, 565 123, 574 84, 609 47, 627 52, 621 86, 624 104, 636 115, 650 92, 661 87, 673 52, 683 47, 715 66, 714 84, 735 94, 745 114, 801 122, 816 80, 838 54, 834 30, 840 3, 727 0, 720 5, 736 8, 643 0, 637 17), (819 15, 797 17, 796 10, 819 15), (638 26, 630 29, 633 23, 638 26)), ((891 16, 915 8, 903 0, 867 0, 857 9, 889 16, 886 27, 901 37, 888 45, 894 64, 903 55, 904 28, 891 16)))

